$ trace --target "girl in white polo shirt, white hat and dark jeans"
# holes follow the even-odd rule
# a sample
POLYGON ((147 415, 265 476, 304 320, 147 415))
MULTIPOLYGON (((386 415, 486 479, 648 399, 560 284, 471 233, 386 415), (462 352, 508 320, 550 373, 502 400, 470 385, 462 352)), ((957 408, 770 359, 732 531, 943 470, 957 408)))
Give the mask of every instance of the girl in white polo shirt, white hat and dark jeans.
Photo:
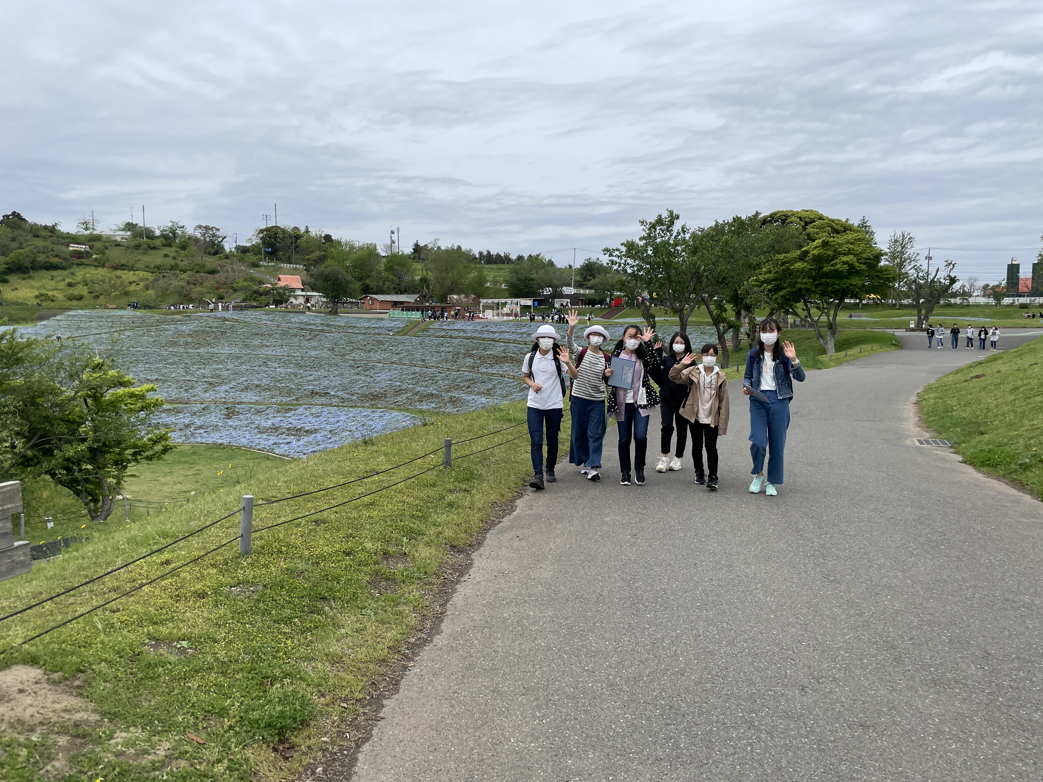
POLYGON ((562 399, 568 377, 578 375, 568 349, 558 345, 558 333, 552 325, 541 325, 533 335, 532 350, 522 363, 522 374, 529 387, 529 438, 532 441, 532 481, 534 489, 543 484, 543 427, 547 427, 547 483, 554 483, 558 462, 558 433, 561 431, 562 399))

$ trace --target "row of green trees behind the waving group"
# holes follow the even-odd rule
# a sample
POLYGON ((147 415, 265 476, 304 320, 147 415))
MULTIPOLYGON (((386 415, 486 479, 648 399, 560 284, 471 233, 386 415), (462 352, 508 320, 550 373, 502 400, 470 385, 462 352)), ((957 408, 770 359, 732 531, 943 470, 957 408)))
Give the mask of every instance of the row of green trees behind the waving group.
POLYGON ((912 299, 923 324, 959 279, 946 261, 929 271, 907 233, 892 236, 887 251, 872 226, 812 210, 735 216, 689 228, 673 211, 640 221, 641 235, 605 254, 615 284, 654 327, 653 307, 665 308, 685 331, 704 310, 728 361, 758 309, 800 319, 834 350, 841 308, 850 301, 912 299))

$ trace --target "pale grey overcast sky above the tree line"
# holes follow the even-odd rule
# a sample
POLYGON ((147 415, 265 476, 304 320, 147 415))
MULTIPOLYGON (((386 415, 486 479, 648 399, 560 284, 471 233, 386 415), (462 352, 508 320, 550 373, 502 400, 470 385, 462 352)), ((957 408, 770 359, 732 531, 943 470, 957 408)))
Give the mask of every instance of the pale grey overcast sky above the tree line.
POLYGON ((0 29, 0 207, 66 227, 144 203, 242 238, 277 202, 564 264, 668 207, 809 207, 993 282, 1043 233, 1039 0, 34 0, 0 29))

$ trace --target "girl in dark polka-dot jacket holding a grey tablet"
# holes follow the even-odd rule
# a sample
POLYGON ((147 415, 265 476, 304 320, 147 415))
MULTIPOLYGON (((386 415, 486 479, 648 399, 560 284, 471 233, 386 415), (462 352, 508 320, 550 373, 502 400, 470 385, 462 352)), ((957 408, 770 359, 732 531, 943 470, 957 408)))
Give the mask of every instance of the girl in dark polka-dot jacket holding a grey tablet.
MULTIPOLYGON (((608 414, 615 419, 620 431, 620 484, 630 486, 630 441, 634 441, 634 480, 645 483, 645 455, 648 450, 649 420, 652 409, 659 405, 659 394, 652 387, 652 378, 660 376, 659 357, 650 349, 655 332, 646 327, 645 333, 635 325, 623 329, 623 338, 615 343, 613 357, 634 362, 634 380, 629 389, 613 387, 608 394, 608 414)), ((659 347, 659 345, 656 345, 659 347)), ((612 376, 612 370, 608 370, 612 376)))

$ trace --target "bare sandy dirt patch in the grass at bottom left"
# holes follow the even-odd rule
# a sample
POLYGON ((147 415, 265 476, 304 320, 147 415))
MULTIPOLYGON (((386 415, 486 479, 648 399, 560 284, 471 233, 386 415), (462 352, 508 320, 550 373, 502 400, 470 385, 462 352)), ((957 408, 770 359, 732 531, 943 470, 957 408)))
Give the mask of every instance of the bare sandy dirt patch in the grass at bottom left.
POLYGON ((41 725, 95 723, 98 713, 71 682, 30 665, 0 670, 0 728, 28 732, 41 725))

